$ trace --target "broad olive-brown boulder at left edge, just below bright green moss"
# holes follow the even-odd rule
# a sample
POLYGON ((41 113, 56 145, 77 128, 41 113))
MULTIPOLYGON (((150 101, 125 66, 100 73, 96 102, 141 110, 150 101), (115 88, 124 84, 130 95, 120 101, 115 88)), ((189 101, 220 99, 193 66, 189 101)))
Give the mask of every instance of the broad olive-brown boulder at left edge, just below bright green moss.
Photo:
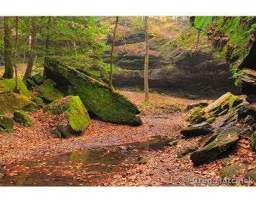
POLYGON ((14 114, 15 110, 36 111, 36 105, 26 96, 15 92, 0 93, 1 114, 14 114))

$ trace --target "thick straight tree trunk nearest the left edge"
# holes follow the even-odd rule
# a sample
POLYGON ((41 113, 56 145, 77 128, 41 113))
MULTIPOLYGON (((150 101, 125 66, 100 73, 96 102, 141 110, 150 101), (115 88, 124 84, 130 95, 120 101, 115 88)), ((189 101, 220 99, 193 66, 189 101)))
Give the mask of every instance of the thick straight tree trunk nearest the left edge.
POLYGON ((4 17, 5 29, 5 73, 4 78, 14 77, 13 47, 11 40, 11 17, 4 17))

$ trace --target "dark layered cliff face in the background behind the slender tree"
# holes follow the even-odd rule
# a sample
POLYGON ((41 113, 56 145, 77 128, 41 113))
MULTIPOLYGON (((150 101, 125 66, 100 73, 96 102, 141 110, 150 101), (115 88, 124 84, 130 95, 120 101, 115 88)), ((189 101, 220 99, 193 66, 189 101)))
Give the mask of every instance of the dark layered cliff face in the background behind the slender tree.
MULTIPOLYGON (((143 86, 144 59, 139 54, 119 53, 114 65, 114 86, 143 86)), ((106 62, 108 58, 106 57, 106 62)), ((149 86, 161 89, 183 89, 187 92, 209 94, 238 92, 230 69, 217 53, 189 53, 181 48, 149 56, 149 86)))

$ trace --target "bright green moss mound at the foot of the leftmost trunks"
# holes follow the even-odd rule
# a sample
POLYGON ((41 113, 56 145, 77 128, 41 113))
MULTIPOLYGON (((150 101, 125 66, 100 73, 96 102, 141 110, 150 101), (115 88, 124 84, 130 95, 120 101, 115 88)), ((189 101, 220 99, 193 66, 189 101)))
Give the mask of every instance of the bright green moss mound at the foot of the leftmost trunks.
MULTIPOLYGON (((6 90, 14 90, 16 82, 14 78, 0 80, 0 92, 5 92, 6 90)), ((27 97, 33 97, 34 95, 29 92, 23 80, 18 79, 18 88, 20 89, 20 94, 26 95, 27 97)))

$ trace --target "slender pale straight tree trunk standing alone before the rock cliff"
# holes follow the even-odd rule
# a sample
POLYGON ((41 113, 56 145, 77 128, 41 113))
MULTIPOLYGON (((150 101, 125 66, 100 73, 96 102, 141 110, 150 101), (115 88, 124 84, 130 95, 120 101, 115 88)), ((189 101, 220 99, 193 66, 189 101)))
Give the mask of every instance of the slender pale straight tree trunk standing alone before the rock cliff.
POLYGON ((145 102, 148 102, 148 17, 145 17, 145 66, 144 66, 144 88, 145 102))

